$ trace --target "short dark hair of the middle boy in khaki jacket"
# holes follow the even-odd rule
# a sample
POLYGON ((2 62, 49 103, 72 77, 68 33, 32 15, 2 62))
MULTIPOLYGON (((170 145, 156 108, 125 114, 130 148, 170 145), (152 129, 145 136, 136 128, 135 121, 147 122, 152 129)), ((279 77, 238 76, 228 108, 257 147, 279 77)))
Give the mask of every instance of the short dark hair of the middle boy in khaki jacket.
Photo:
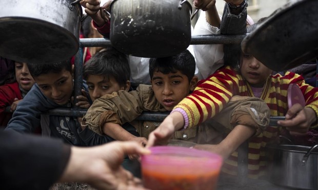
POLYGON ((177 71, 186 75, 189 82, 192 80, 195 73, 195 59, 189 50, 185 50, 175 56, 151 58, 149 60, 150 79, 152 79, 154 72, 161 72, 166 75, 177 71))

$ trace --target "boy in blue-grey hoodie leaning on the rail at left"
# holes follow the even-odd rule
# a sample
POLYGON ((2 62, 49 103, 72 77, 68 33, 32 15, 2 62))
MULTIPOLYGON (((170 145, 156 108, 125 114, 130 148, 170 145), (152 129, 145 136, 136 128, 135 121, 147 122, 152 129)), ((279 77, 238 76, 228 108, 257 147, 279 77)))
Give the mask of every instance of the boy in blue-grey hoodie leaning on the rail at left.
MULTIPOLYGON (((69 61, 28 63, 28 67, 36 84, 16 107, 6 130, 31 133, 41 122, 43 134, 62 138, 72 145, 84 146, 83 140, 77 134, 77 129, 81 127, 77 117, 44 114, 53 108, 71 107, 73 96, 71 63, 69 61)), ((78 96, 76 99, 79 100, 77 106, 82 108, 90 106, 90 100, 85 96, 78 96)))

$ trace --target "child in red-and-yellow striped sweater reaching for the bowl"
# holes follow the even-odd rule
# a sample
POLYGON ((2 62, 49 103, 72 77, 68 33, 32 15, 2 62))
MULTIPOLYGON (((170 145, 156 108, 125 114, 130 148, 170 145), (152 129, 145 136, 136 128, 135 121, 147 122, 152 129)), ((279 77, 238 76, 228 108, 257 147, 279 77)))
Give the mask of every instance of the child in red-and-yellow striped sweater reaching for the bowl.
MULTIPOLYGON (((164 122, 149 135, 147 146, 167 143, 174 131, 191 128, 215 116, 235 95, 258 97, 267 103, 271 115, 286 116, 285 121, 277 122, 282 127, 269 126, 249 140, 248 177, 264 177, 266 145, 275 140, 283 127, 289 131, 306 133, 316 125, 318 114, 318 88, 306 84, 303 77, 294 73, 287 72, 284 76, 272 76, 271 73, 272 70, 260 61, 243 54, 240 68, 227 66, 218 69, 176 105, 164 122), (296 104, 288 109, 287 89, 291 83, 300 86, 306 100, 305 107, 296 104)), ((241 137, 235 135, 235 138, 241 137)), ((214 151, 213 145, 198 145, 197 148, 214 151)), ((235 152, 225 161, 223 172, 237 175, 236 167, 235 152)))

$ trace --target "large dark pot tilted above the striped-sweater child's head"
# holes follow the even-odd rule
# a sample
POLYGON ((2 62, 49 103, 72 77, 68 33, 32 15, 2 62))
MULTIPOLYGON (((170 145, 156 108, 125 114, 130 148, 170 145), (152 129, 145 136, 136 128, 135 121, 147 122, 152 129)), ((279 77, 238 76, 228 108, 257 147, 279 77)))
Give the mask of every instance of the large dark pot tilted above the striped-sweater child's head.
POLYGON ((274 11, 242 40, 242 51, 275 71, 318 56, 318 1, 302 0, 274 11))

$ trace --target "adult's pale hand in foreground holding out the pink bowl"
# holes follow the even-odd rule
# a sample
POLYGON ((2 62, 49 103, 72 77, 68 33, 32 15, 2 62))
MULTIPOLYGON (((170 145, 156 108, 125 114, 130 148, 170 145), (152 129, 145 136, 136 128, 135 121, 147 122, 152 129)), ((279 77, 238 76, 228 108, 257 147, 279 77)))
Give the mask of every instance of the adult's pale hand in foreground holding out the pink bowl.
POLYGON ((126 154, 149 154, 132 141, 114 141, 91 148, 71 148, 61 182, 85 182, 97 189, 145 189, 141 180, 122 167, 126 154))

